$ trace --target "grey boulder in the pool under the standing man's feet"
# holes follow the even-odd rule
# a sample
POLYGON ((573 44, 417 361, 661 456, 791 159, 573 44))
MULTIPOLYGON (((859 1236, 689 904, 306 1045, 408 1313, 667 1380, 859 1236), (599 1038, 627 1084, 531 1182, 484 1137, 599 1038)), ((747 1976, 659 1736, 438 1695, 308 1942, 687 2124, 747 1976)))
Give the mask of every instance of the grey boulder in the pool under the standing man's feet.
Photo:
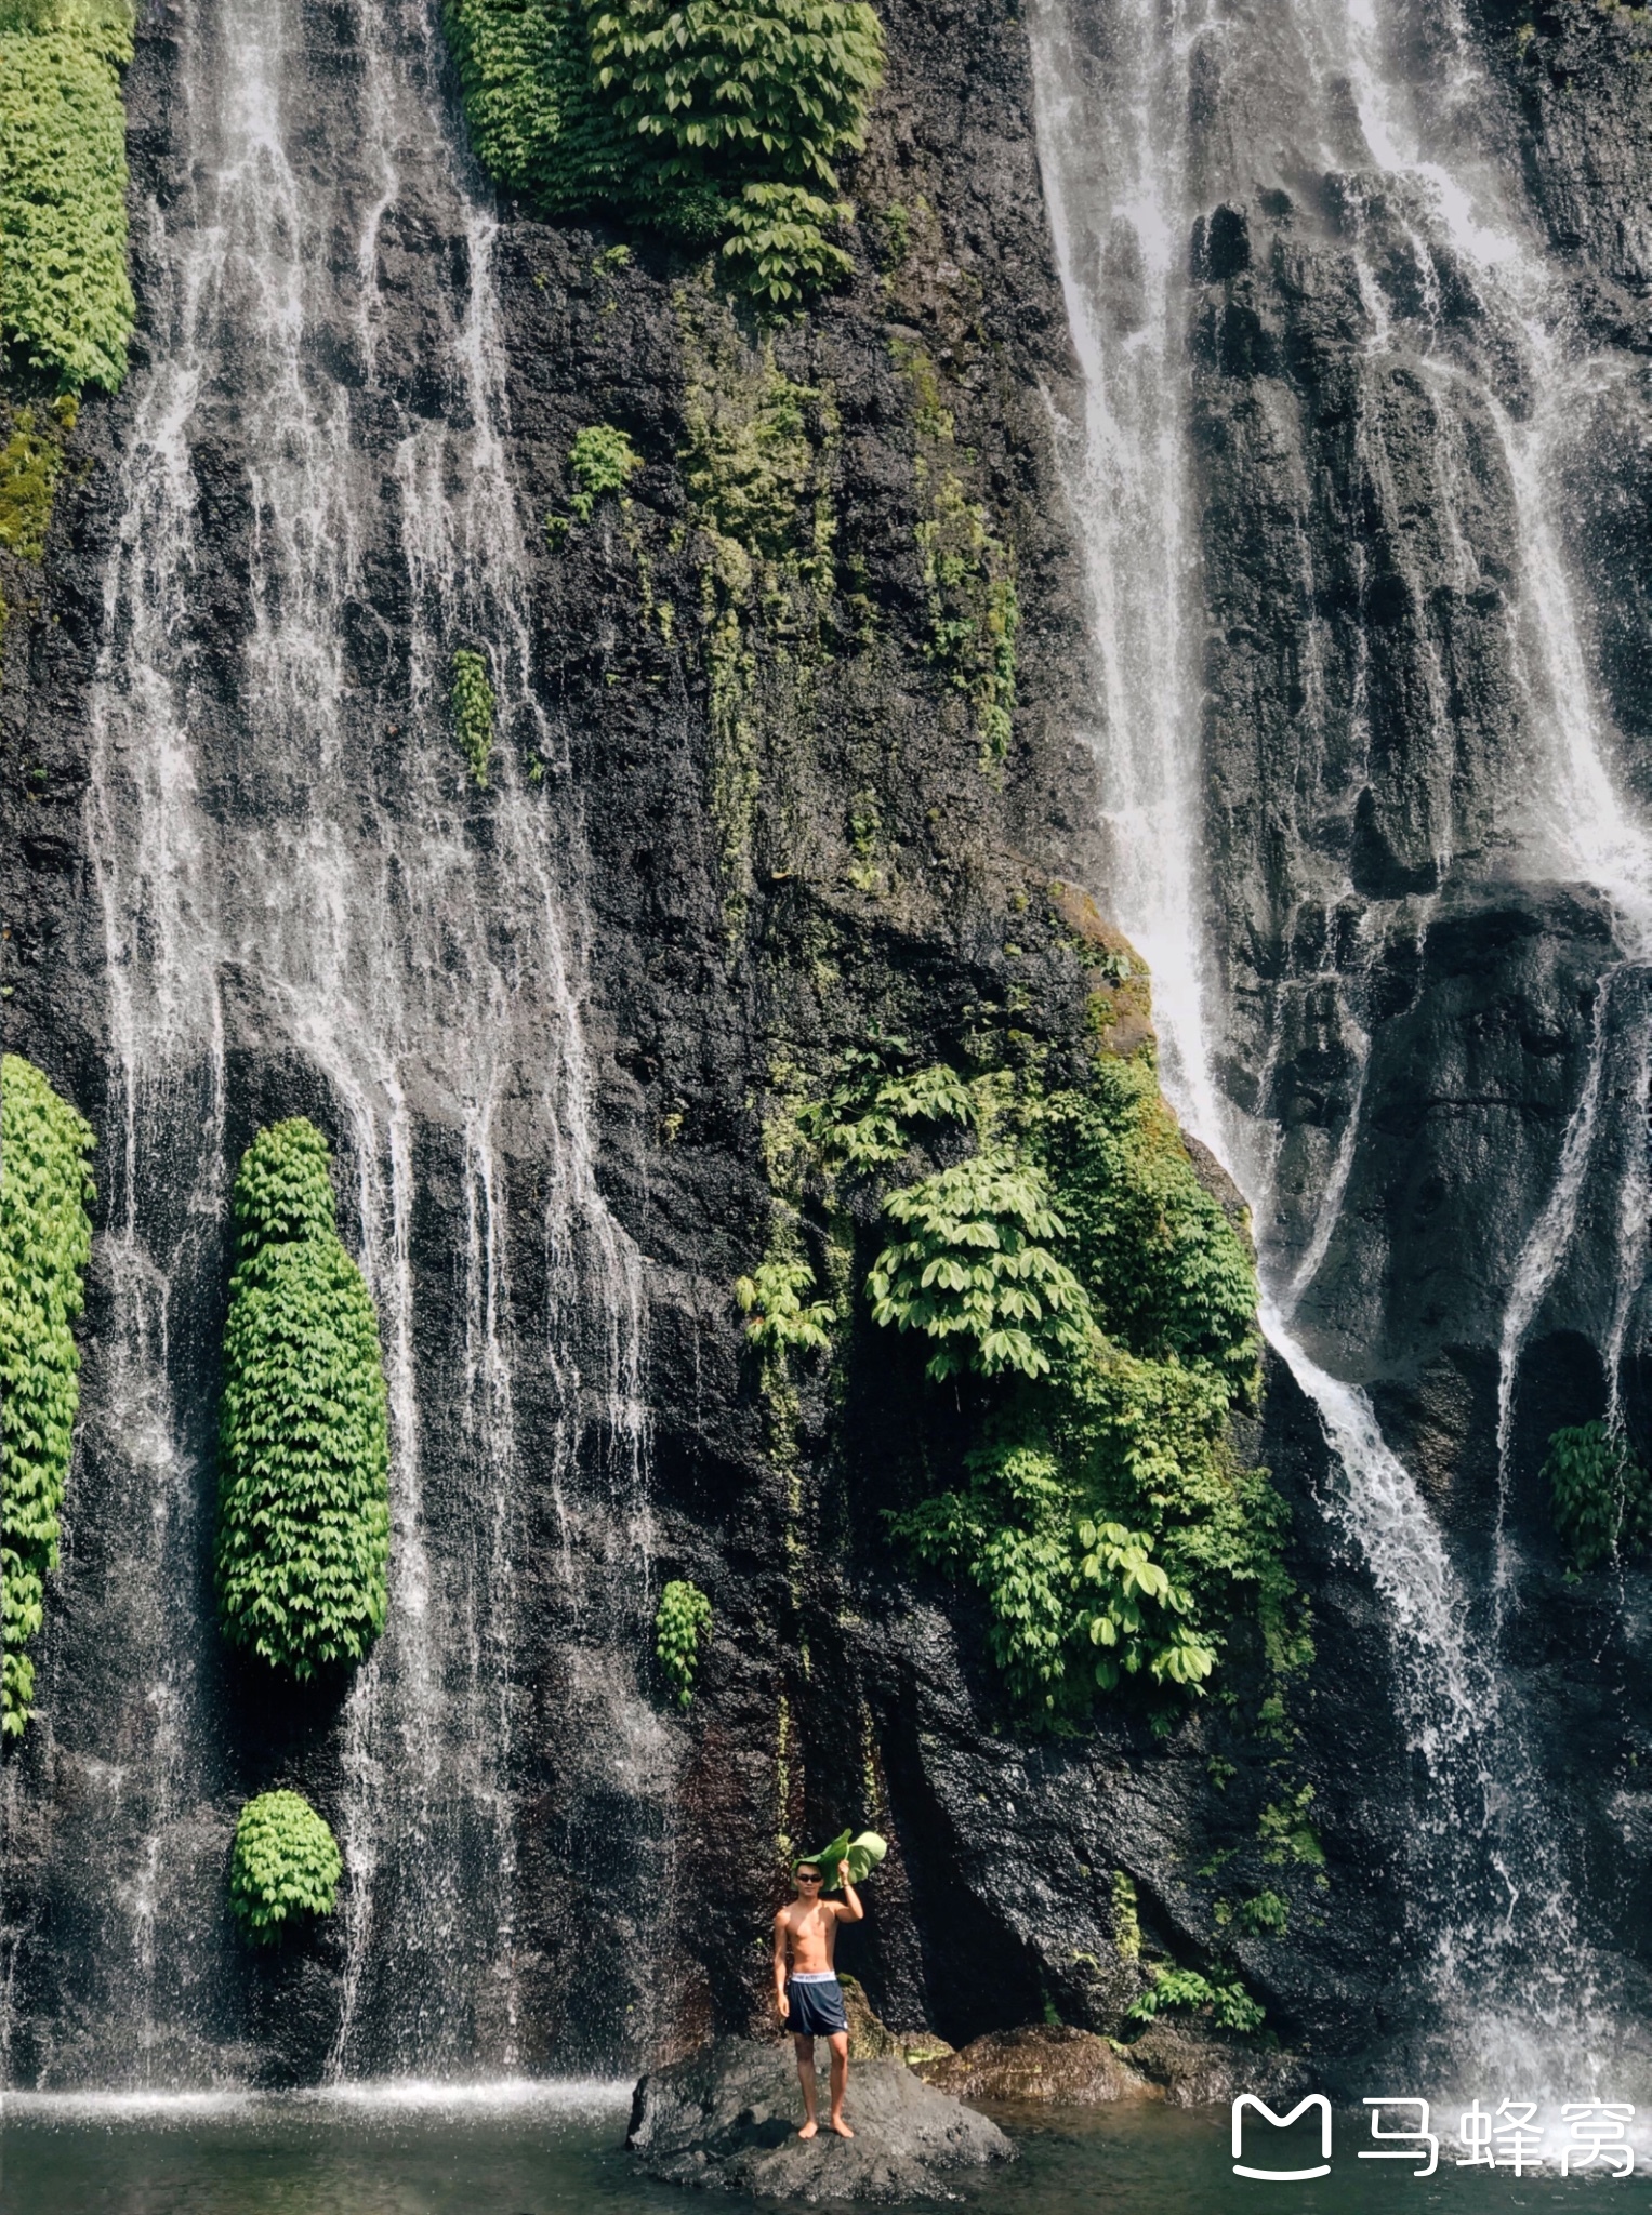
MULTIPOLYGON (((819 2089, 826 2104, 826 2051, 819 2089)), ((631 2095, 627 2146, 644 2175, 775 2199, 912 2199, 943 2193, 950 2168, 1008 2162, 1003 2131, 897 2060, 850 2067, 844 2120, 804 2142, 791 2047, 720 2038, 651 2069, 631 2095)))

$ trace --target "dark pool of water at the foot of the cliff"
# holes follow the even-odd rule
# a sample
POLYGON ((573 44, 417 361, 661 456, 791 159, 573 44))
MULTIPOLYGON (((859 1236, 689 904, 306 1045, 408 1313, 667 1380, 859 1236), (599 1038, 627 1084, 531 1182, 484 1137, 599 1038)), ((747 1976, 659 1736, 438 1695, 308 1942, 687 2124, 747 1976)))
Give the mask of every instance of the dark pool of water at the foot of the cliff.
MULTIPOLYGON (((18 2100, 0 2113, 4 2215, 711 2215, 717 2202, 631 2175, 613 2087, 416 2089, 268 2100, 18 2100)), ((1001 2113, 1021 2160, 961 2184, 959 2215, 1645 2215, 1652 2175, 1515 2177, 1357 2162, 1338 2118, 1331 2175, 1233 2177, 1225 2111, 1001 2113)), ((1442 2146, 1442 2164, 1455 2155, 1442 2146)), ((1256 2160, 1256 2155, 1247 2155, 1256 2160)), ((731 2208, 751 2202, 729 2202, 731 2208)))

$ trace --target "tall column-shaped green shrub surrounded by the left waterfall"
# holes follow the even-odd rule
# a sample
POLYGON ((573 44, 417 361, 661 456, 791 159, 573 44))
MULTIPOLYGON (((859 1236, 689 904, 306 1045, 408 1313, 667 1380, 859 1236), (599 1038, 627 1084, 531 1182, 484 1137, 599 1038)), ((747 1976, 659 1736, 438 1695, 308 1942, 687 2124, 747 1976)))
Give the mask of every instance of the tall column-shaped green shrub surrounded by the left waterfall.
POLYGON ((312 1677, 383 1630, 390 1557, 379 1320, 339 1245, 328 1145, 259 1132, 235 1178, 217 1582, 224 1635, 312 1677))

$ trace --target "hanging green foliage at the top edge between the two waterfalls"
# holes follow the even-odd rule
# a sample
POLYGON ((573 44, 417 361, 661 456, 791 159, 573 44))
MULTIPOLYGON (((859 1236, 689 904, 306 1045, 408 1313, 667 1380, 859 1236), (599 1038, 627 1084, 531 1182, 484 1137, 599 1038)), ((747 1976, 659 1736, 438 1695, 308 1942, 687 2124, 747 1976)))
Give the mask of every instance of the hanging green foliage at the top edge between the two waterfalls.
POLYGON ((835 164, 884 75, 866 0, 445 0, 443 22, 472 142, 509 190, 720 248, 764 306, 844 275, 835 164))

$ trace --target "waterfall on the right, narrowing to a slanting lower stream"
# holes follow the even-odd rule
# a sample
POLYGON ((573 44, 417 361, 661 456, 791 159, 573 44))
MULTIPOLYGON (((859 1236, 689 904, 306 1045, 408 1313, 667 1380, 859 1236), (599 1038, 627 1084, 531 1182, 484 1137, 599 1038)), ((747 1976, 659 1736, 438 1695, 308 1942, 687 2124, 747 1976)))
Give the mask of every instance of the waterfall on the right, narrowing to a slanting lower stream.
MULTIPOLYGON (((1610 1311, 1597 1322, 1617 1409, 1645 1265, 1639 983, 1652 955, 1652 835, 1621 791, 1588 662, 1588 611, 1563 549, 1577 396, 1608 388, 1619 370, 1586 359, 1570 330, 1563 286, 1517 202, 1508 153, 1493 142, 1497 95, 1455 4, 1039 0, 1032 53, 1041 168, 1083 379, 1070 485, 1092 605, 1107 902, 1154 966, 1167 1092, 1251 1203, 1264 1327, 1320 1413, 1335 1471, 1331 1522, 1382 1595, 1395 1710, 1422 1779, 1404 1912, 1439 2025, 1428 2067, 1450 2082, 1479 2071, 1477 2087, 1495 2084, 1497 2098, 1577 2098, 1599 2080, 1617 2029, 1601 2011, 1605 1969, 1501 1659, 1501 1601, 1481 1606, 1384 1440, 1360 1384, 1377 1367, 1375 1347, 1349 1336, 1346 1313, 1318 1311, 1313 1289, 1333 1243, 1357 1238, 1344 1198, 1364 1136, 1380 935, 1411 941, 1422 966, 1428 930, 1462 886, 1581 888, 1603 904, 1619 959, 1597 990, 1583 1085, 1548 1198, 1506 1263, 1504 1488, 1521 1349, 1579 1238, 1586 1181, 1610 1194, 1603 1225, 1590 1218, 1588 1229, 1614 1256, 1610 1311), (1233 210, 1249 208, 1253 222, 1258 208, 1271 210, 1267 219, 1284 226, 1304 199, 1313 244, 1298 248, 1298 233, 1282 228, 1280 253, 1320 253, 1326 268, 1335 255, 1346 272, 1335 297, 1353 334, 1349 452, 1371 505, 1382 516, 1400 507, 1388 412, 1411 408, 1408 421, 1426 416, 1433 447, 1433 509, 1415 525, 1431 536, 1433 574, 1450 594, 1504 607, 1493 660, 1512 742, 1497 749, 1495 786, 1481 791, 1464 773, 1450 707, 1446 656, 1457 642, 1433 627, 1444 618, 1431 609, 1428 580, 1406 569, 1406 540, 1395 540, 1395 591, 1413 625, 1404 678, 1422 742, 1406 766, 1406 866, 1382 913, 1355 893, 1349 844, 1331 851, 1326 835, 1335 808, 1346 815, 1340 795, 1377 782, 1377 640, 1360 622, 1349 642, 1324 611, 1333 594, 1315 576, 1311 538, 1320 494, 1293 459, 1295 425, 1260 383, 1247 388, 1247 436, 1258 452, 1287 456, 1269 485, 1269 527, 1280 545, 1273 589, 1291 596, 1280 618, 1291 625, 1298 704, 1289 777, 1267 789, 1256 844, 1245 844, 1249 826, 1231 828, 1240 817, 1227 758, 1211 751, 1200 680, 1198 286, 1249 268, 1233 210), (1448 297, 1459 303, 1453 315, 1448 297), (1488 534, 1486 485, 1501 487, 1512 560, 1488 534), (1238 846, 1225 875, 1218 822, 1238 846), (1273 926, 1287 948, 1307 941, 1309 955, 1247 970, 1247 930, 1260 937, 1273 926), (1340 1127, 1287 1132, 1271 1112, 1276 1070, 1304 1041, 1340 1072, 1340 1127), (1630 1108, 1614 1119, 1601 1112, 1608 1063, 1628 1072, 1630 1108)), ((1309 284, 1298 266, 1291 281, 1309 284)), ((1346 591, 1360 598, 1377 583, 1366 540, 1351 534, 1344 547, 1346 591)), ((1251 742, 1242 707, 1238 727, 1242 746, 1251 742)), ((1490 1582, 1501 1590, 1510 1575, 1501 1511, 1495 1548, 1490 1582)))

